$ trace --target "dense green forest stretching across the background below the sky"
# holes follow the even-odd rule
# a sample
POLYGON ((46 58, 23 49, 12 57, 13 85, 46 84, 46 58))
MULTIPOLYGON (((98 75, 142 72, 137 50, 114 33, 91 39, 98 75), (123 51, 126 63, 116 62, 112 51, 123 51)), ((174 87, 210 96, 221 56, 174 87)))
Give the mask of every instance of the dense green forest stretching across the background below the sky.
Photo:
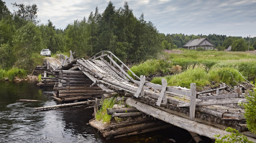
MULTIPOLYGON (((246 51, 249 37, 218 34, 162 34, 144 14, 134 16, 127 1, 116 9, 109 1, 103 13, 98 7, 86 19, 75 20, 65 29, 57 29, 50 19, 40 24, 37 4, 12 4, 9 11, 6 2, 0 0, 0 69, 12 67, 31 72, 42 62, 40 51, 50 49, 53 54, 76 51, 77 57, 90 57, 99 51, 109 50, 122 61, 140 63, 155 59, 164 49, 177 49, 191 39, 206 37, 218 50, 232 45, 234 51, 246 51)), ((256 49, 256 37, 250 38, 250 50, 256 49)))

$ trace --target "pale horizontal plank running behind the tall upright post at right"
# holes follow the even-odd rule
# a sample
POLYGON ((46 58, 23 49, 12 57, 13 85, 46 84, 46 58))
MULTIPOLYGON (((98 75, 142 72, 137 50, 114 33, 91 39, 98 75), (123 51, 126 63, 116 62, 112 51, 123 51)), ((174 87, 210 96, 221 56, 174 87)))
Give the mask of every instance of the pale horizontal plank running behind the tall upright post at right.
MULTIPOLYGON (((234 104, 234 103, 246 103, 246 99, 214 99, 202 102, 196 102, 196 106, 207 106, 207 105, 217 105, 217 104, 234 104)), ((189 103, 180 103, 177 107, 189 107, 189 103)))

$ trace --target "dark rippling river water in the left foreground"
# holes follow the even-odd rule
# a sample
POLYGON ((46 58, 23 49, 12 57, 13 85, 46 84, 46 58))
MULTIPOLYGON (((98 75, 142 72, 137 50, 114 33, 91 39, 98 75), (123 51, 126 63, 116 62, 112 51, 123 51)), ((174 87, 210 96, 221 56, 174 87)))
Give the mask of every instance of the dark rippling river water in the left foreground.
POLYGON ((194 142, 186 130, 178 127, 106 140, 88 124, 93 109, 84 106, 35 112, 35 107, 55 104, 52 87, 40 89, 34 82, 0 81, 0 142, 194 142))

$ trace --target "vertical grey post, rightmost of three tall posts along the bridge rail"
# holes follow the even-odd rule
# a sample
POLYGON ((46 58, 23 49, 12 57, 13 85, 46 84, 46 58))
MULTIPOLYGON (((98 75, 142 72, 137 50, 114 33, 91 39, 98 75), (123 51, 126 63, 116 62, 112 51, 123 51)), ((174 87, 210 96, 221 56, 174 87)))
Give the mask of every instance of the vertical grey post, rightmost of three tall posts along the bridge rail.
POLYGON ((189 119, 195 119, 195 109, 196 109, 196 84, 191 83, 191 104, 189 107, 189 119))

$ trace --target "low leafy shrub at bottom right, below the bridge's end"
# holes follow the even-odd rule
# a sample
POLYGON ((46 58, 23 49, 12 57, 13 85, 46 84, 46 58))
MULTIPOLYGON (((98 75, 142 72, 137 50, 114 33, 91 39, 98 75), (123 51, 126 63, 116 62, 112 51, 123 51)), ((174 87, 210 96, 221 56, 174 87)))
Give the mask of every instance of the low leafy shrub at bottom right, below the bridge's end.
POLYGON ((224 135, 223 137, 221 137, 221 139, 219 139, 221 134, 215 135, 215 137, 216 137, 215 142, 225 142, 225 143, 228 143, 228 142, 248 142, 248 143, 253 143, 246 136, 244 136, 243 134, 240 134, 236 129, 232 129, 231 127, 228 127, 227 129, 225 129, 225 131, 230 132, 232 134, 224 135))

